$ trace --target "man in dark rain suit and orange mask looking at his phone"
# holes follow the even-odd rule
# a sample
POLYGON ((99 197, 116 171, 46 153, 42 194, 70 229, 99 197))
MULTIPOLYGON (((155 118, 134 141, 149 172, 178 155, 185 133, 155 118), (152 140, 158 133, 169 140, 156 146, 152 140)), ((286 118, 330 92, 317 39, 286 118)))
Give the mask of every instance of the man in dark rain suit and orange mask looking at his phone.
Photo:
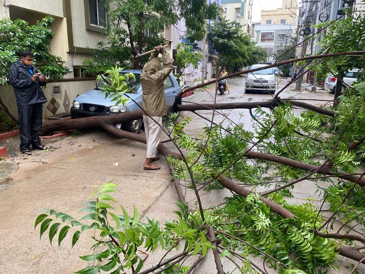
POLYGON ((43 103, 47 102, 41 86, 46 85, 46 77, 33 66, 34 56, 29 50, 20 53, 20 59, 9 68, 8 79, 14 88, 18 105, 20 151, 31 155, 34 149, 44 150, 39 133, 42 128, 43 103))

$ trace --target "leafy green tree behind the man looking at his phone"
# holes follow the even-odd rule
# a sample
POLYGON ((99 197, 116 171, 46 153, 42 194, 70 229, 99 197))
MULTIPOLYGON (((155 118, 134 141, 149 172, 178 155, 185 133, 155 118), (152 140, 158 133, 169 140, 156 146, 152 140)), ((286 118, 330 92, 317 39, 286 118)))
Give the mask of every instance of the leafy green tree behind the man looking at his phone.
POLYGON ((22 50, 34 54, 34 62, 41 73, 50 79, 61 79, 68 72, 61 57, 50 53, 54 18, 46 17, 29 26, 24 20, 0 20, 0 84, 6 84, 9 66, 19 59, 22 50))

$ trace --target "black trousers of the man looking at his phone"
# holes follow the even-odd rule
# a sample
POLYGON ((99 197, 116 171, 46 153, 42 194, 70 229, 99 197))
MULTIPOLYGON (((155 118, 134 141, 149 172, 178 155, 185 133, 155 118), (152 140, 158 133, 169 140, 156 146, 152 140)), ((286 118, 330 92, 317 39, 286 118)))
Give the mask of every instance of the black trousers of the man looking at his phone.
POLYGON ((42 103, 18 106, 20 151, 41 146, 42 103))

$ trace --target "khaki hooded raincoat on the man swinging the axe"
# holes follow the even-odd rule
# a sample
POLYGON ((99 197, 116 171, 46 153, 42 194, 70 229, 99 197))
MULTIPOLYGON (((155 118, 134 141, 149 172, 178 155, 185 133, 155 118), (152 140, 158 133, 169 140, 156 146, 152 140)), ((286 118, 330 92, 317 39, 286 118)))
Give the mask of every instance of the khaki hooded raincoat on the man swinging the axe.
POLYGON ((167 115, 164 81, 172 71, 172 61, 166 49, 161 51, 161 68, 158 52, 151 54, 141 73, 142 108, 150 116, 167 115))

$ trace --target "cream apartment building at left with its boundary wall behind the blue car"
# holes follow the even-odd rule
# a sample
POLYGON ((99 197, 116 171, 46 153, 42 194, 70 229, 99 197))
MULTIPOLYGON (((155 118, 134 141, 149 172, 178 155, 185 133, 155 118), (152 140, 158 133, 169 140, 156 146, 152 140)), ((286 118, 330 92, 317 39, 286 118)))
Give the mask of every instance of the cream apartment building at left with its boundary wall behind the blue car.
MULTIPOLYGON (((51 27, 54 38, 51 52, 60 56, 69 72, 64 79, 47 83, 45 95, 48 99, 43 118, 69 113, 70 104, 77 95, 95 87, 95 75, 86 75, 81 69, 82 60, 91 58, 90 48, 99 41, 107 42, 105 22, 107 14, 101 0, 4 0, 0 5, 0 19, 23 19, 34 24, 46 16, 52 16, 51 27)), ((173 28, 166 28, 166 41, 172 45, 173 28)), ((167 48, 172 55, 172 46, 167 48)), ((0 86, 1 99, 11 113, 17 117, 15 96, 11 86, 0 86)))

